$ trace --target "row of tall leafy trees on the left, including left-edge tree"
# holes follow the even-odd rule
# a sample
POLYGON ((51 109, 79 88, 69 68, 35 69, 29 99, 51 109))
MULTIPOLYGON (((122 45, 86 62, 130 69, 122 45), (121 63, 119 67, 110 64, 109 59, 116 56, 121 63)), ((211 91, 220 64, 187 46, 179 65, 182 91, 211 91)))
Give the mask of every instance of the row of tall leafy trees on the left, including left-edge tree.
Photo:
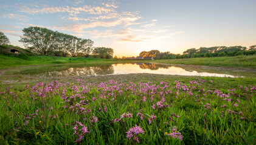
MULTIPOLYGON (((112 48, 93 47, 91 39, 81 39, 70 34, 52 31, 47 28, 29 27, 22 30, 23 36, 19 42, 33 53, 48 56, 99 57, 111 59, 112 48)), ((9 39, 0 33, 0 44, 9 44, 9 39)))

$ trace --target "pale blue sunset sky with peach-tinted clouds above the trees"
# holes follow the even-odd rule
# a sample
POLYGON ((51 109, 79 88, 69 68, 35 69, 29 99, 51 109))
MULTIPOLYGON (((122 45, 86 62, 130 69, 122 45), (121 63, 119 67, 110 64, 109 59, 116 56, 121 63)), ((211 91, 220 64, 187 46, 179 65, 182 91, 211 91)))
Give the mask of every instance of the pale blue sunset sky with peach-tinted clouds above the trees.
POLYGON ((12 45, 22 29, 49 28, 109 47, 114 56, 159 50, 256 45, 255 0, 0 0, 0 31, 12 45))

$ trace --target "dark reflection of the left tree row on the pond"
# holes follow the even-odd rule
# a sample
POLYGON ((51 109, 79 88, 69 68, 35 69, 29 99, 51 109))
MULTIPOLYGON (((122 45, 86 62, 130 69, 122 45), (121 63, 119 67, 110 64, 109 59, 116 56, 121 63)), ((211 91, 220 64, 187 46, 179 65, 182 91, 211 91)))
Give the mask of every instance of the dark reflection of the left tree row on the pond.
POLYGON ((94 66, 85 68, 68 68, 62 71, 50 71, 34 74, 36 77, 67 77, 67 76, 93 76, 114 74, 112 65, 94 66))

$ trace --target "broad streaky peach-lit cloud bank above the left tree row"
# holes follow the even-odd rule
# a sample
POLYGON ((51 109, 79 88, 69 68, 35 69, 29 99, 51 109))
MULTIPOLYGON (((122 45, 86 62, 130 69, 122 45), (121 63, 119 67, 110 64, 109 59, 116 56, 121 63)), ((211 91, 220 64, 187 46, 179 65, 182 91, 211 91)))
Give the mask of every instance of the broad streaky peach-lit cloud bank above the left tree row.
MULTIPOLYGON (((182 31, 171 32, 172 25, 159 25, 157 19, 142 22, 139 11, 122 11, 113 1, 98 5, 85 5, 84 0, 74 1, 71 6, 19 5, 20 14, 60 13, 61 24, 52 27, 35 24, 22 24, 46 27, 58 31, 69 31, 74 36, 112 39, 116 42, 156 42, 174 36, 182 31), (64 23, 63 23, 64 22, 64 23)), ((37 16, 37 15, 36 15, 37 16)), ((15 19, 15 14, 5 17, 15 19)), ((11 32, 9 32, 11 33, 11 32)))

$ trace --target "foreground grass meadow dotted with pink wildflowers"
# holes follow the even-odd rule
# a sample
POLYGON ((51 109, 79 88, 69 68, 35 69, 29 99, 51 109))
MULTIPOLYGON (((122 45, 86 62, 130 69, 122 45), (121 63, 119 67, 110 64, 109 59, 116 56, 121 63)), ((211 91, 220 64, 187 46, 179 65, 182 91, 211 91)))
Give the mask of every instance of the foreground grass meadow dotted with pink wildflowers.
POLYGON ((147 80, 2 85, 0 144, 256 143, 256 79, 147 80))

